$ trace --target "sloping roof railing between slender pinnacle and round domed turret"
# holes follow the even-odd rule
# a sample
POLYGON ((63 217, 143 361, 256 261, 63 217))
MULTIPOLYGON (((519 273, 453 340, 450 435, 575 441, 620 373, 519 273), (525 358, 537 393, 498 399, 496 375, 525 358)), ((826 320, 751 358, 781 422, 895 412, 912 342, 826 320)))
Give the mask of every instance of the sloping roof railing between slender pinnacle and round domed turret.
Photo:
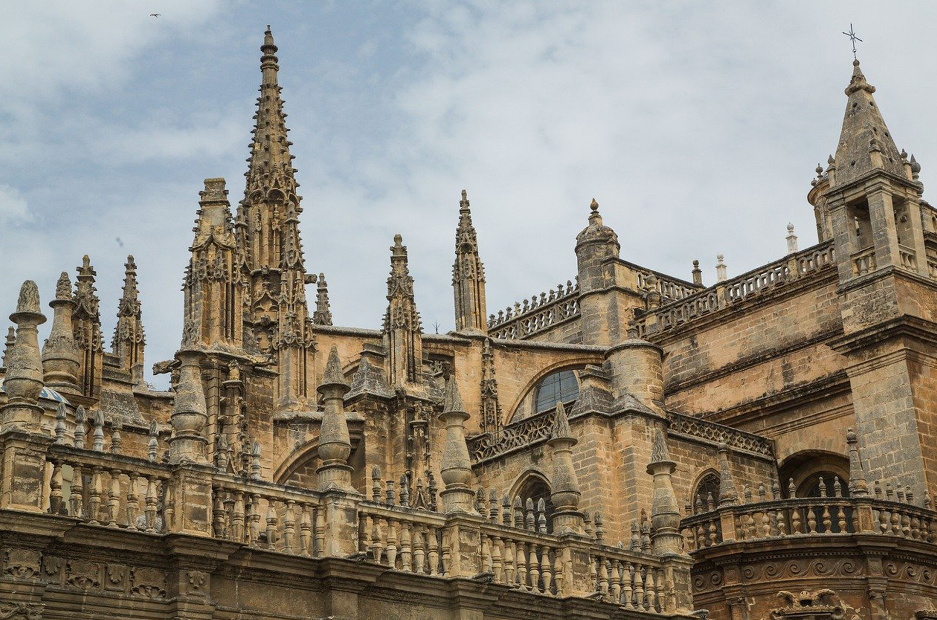
POLYGON ((488 317, 488 335, 492 338, 524 339, 543 332, 568 318, 579 316, 579 284, 566 281, 549 294, 542 292, 523 303, 514 303, 498 316, 488 317))

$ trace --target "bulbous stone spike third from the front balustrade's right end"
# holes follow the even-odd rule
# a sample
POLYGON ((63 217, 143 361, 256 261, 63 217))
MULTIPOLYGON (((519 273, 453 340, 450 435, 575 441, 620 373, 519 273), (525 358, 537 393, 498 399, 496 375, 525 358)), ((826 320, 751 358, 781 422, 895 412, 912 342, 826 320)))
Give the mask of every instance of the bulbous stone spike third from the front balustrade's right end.
POLYGON ((474 514, 474 494, 468 487, 468 481, 471 480, 471 461, 468 458, 465 431, 468 413, 462 405, 462 397, 458 386, 455 385, 454 376, 446 381, 445 399, 439 420, 446 425, 446 443, 439 464, 442 482, 446 486, 440 493, 442 511, 474 514))

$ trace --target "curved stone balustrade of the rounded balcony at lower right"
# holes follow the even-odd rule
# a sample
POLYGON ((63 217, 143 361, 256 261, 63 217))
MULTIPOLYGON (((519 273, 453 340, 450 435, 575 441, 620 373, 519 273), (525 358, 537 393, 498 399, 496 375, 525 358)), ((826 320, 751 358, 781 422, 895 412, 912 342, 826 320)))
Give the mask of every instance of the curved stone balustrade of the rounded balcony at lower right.
MULTIPOLYGON (((837 480, 839 488, 839 480, 837 480)), ((691 550, 751 539, 813 535, 877 534, 937 544, 937 512, 930 499, 920 508, 895 501, 890 487, 878 496, 792 497, 781 499, 777 489, 772 499, 764 494, 749 501, 714 508, 683 519, 681 532, 691 550)), ((901 494, 900 500, 907 495, 901 494)), ((910 500, 909 500, 910 501, 910 500)))

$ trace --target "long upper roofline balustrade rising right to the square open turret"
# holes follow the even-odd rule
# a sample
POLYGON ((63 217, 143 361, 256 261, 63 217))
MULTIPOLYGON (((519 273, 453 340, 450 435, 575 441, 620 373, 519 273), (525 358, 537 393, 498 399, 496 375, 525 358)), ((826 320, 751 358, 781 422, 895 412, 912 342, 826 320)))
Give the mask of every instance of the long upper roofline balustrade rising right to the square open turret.
POLYGON ((666 303, 653 313, 636 317, 632 321, 632 329, 641 338, 673 330, 697 317, 704 317, 733 303, 763 294, 793 279, 825 272, 835 266, 835 260, 833 242, 814 245, 761 269, 699 290, 677 302, 666 303))

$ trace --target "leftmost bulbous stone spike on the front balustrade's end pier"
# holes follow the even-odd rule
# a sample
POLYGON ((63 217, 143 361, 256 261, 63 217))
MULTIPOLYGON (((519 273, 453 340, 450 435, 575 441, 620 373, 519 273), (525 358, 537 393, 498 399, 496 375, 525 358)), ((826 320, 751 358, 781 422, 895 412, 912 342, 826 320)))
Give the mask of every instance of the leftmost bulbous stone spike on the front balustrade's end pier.
POLYGON ((16 341, 7 355, 7 375, 3 387, 7 403, 0 407, 0 431, 40 432, 42 407, 42 360, 39 356, 37 327, 46 322, 39 311, 39 289, 32 280, 20 288, 16 312, 9 316, 16 324, 16 341))

